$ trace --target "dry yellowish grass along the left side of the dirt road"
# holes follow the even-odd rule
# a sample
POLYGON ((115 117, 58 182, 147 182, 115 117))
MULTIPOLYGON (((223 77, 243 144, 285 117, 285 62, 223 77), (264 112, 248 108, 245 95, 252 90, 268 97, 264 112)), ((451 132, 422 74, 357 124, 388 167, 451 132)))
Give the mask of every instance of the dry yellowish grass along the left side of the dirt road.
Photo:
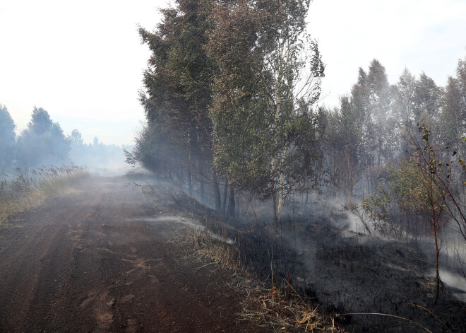
POLYGON ((86 168, 78 165, 17 171, 16 177, 4 175, 0 181, 0 225, 8 216, 36 207, 50 197, 66 194, 89 177, 86 168))

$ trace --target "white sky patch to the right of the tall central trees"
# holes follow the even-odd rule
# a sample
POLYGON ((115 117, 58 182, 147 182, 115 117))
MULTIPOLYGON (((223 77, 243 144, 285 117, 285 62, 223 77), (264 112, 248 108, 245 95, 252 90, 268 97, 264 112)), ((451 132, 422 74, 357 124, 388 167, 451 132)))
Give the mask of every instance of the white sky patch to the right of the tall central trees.
POLYGON ((326 64, 320 103, 333 107, 372 59, 392 84, 406 67, 445 86, 466 57, 466 0, 313 0, 308 29, 326 64))

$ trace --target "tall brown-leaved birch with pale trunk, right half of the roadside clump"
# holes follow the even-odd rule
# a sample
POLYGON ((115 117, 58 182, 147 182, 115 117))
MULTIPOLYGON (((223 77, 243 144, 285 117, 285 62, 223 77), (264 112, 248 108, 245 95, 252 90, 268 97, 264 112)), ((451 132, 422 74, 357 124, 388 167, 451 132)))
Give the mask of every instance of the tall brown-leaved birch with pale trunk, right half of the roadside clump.
POLYGON ((308 9, 299 0, 217 3, 207 44, 219 67, 210 107, 215 168, 230 184, 271 197, 277 219, 320 160, 311 106, 324 66, 306 35, 308 9))

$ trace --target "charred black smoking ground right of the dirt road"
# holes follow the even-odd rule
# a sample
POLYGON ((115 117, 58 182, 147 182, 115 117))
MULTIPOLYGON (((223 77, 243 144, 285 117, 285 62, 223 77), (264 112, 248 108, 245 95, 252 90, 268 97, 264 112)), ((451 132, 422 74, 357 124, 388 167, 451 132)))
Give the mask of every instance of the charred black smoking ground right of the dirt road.
POLYGON ((275 226, 237 226, 243 260, 261 279, 270 279, 273 262, 277 282, 291 281, 347 332, 466 332, 466 304, 451 295, 458 289, 443 285, 434 305, 435 266, 426 255, 433 248, 356 235, 328 220, 307 214, 275 226))

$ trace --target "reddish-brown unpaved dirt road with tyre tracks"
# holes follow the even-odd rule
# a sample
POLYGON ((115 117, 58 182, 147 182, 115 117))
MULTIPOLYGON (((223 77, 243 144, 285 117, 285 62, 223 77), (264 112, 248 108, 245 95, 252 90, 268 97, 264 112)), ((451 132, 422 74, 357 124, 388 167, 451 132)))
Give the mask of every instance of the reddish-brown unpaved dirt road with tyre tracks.
MULTIPOLYGON (((0 227, 0 332, 258 332, 227 274, 166 243, 166 206, 118 178, 0 227)), ((171 212, 173 214, 173 212, 171 212)))

